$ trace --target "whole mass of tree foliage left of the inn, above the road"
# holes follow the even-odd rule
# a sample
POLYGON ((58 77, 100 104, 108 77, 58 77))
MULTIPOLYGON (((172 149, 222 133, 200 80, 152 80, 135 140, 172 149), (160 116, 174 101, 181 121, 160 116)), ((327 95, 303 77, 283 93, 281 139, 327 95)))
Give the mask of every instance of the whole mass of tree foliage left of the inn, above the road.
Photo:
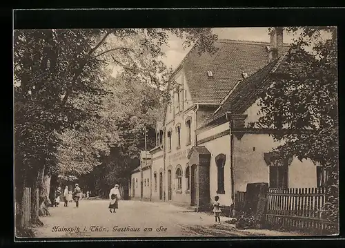
POLYGON ((161 108, 157 90, 164 90, 170 70, 159 57, 169 34, 215 52, 210 28, 14 31, 18 201, 22 187, 41 187, 43 175, 73 180, 110 151, 135 157, 139 129, 152 127, 161 108), (118 68, 116 80, 110 64, 118 68))

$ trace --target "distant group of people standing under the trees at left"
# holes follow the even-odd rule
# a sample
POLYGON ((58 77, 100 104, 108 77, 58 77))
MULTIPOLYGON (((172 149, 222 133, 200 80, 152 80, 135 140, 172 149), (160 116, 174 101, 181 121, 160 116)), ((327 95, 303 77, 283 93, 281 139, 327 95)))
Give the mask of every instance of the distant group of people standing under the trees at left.
POLYGON ((57 187, 54 195, 53 207, 59 207, 61 201, 64 202, 63 207, 68 207, 68 202, 72 202, 73 200, 75 200, 75 207, 79 207, 79 200, 83 198, 90 198, 90 191, 83 193, 79 184, 75 184, 75 189, 73 191, 72 187, 68 187, 68 185, 63 189, 63 192, 61 191, 61 187, 57 187))

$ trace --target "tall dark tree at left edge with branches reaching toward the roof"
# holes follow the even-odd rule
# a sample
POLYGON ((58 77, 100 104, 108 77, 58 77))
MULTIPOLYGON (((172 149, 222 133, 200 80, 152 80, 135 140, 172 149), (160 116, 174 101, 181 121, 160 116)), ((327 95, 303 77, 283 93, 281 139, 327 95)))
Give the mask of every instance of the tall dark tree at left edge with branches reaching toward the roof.
MULTIPOLYGON (((200 51, 214 52, 216 37, 210 28, 15 30, 15 195, 21 202, 23 187, 32 187, 34 223, 41 224, 36 189, 43 192, 45 176, 49 180, 49 175, 61 168, 58 149, 60 144, 68 144, 61 135, 71 132, 77 137, 76 128, 81 124, 85 128, 88 122, 99 120, 101 99, 109 93, 103 85, 104 66, 115 63, 124 72, 159 88, 164 84, 159 80, 164 71, 156 58, 163 55, 161 45, 167 43, 168 32, 185 37, 186 46, 196 43, 200 51)), ((93 151, 101 151, 100 140, 86 144, 93 144, 93 151)), ((86 166, 81 171, 88 171, 89 164, 80 164, 86 166)))

